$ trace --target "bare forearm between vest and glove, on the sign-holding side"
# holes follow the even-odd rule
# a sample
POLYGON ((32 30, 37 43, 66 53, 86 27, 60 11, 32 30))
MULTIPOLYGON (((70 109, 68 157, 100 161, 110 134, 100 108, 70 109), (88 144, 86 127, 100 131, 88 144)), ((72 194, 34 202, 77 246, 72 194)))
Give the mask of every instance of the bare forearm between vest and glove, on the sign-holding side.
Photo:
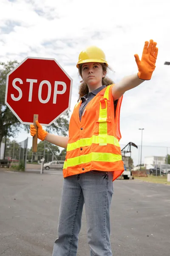
POLYGON ((58 136, 58 135, 48 133, 45 140, 59 147, 67 148, 68 137, 58 136))

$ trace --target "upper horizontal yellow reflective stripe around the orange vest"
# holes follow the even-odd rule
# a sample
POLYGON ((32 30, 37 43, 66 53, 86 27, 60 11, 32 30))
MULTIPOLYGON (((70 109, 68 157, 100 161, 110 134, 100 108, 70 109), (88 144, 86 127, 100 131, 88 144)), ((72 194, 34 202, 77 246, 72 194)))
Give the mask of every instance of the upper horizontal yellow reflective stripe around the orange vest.
POLYGON ((100 134, 98 136, 93 135, 91 138, 82 138, 77 140, 73 143, 68 143, 67 151, 74 150, 76 148, 90 146, 92 143, 99 144, 99 143, 108 143, 120 147, 119 140, 116 139, 114 136, 107 135, 107 134, 100 134))

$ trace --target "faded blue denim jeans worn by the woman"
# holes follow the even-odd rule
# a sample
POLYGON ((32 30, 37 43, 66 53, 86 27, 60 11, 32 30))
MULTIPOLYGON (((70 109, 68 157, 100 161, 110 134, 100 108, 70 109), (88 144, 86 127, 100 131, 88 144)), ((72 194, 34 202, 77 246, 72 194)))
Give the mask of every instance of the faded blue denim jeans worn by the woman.
POLYGON ((90 171, 64 179, 59 209, 58 238, 52 256, 76 256, 82 209, 88 230, 91 256, 112 256, 110 206, 112 172, 90 171))

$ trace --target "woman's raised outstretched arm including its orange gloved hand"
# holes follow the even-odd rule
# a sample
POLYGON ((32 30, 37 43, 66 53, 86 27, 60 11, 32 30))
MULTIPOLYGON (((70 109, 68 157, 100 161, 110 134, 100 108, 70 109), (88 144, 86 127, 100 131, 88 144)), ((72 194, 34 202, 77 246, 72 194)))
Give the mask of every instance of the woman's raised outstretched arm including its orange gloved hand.
POLYGON ((152 73, 156 67, 157 55, 158 48, 156 47, 156 42, 153 42, 153 40, 150 40, 150 43, 145 41, 141 61, 137 54, 134 55, 139 72, 136 75, 123 78, 119 83, 113 86, 113 100, 119 99, 127 90, 133 89, 139 84, 142 84, 145 80, 151 79, 152 73))

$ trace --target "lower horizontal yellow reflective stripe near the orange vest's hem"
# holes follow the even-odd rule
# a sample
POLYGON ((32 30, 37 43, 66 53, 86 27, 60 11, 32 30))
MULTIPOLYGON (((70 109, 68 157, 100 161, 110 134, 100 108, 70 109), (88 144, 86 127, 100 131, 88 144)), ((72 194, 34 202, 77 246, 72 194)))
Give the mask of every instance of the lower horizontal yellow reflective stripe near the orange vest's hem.
POLYGON ((77 166, 83 163, 90 163, 91 161, 117 162, 120 160, 122 160, 122 156, 119 154, 91 152, 90 154, 81 155, 79 157, 68 158, 64 162, 63 169, 66 169, 67 167, 77 166))

